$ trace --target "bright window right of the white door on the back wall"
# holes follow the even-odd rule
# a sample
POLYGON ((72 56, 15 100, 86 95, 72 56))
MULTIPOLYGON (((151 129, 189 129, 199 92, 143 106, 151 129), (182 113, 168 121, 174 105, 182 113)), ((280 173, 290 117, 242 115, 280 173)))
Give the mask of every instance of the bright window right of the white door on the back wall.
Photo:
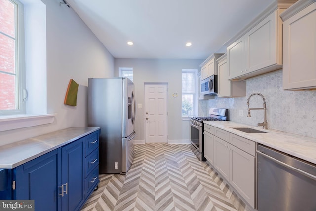
POLYGON ((182 69, 182 116, 197 114, 197 70, 182 69))

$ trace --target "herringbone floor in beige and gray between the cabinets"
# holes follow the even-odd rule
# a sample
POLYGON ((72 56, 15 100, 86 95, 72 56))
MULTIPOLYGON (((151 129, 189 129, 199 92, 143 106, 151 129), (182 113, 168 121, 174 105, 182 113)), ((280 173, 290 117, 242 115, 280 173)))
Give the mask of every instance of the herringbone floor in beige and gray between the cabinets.
POLYGON ((100 175, 81 211, 248 211, 188 144, 135 145, 126 175, 100 175))

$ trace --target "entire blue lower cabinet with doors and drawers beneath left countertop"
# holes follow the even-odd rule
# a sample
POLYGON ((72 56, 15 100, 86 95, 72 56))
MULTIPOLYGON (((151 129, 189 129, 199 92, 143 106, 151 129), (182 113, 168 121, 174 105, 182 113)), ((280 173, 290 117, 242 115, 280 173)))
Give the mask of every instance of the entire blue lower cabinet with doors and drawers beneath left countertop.
MULTIPOLYGON (((92 135, 97 141, 99 132, 92 135)), ((0 199, 34 200, 35 211, 79 211, 99 183, 99 149, 86 155, 86 137, 14 169, 0 169, 0 199), (88 169, 87 162, 92 162, 88 169)))

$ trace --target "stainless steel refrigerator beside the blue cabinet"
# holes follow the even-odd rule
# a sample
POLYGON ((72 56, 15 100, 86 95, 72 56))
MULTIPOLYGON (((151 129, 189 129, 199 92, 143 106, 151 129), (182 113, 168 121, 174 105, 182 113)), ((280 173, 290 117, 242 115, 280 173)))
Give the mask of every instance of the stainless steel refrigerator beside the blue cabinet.
POLYGON ((88 79, 88 126, 101 127, 99 173, 125 174, 134 159, 135 97, 128 78, 88 79))

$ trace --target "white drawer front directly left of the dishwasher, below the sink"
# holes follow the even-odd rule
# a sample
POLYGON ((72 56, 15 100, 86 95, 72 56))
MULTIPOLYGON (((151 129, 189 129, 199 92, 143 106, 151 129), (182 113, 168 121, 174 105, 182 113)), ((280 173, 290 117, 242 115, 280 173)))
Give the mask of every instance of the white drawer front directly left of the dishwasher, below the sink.
POLYGON ((254 141, 230 133, 229 142, 252 156, 256 155, 256 143, 254 141))

